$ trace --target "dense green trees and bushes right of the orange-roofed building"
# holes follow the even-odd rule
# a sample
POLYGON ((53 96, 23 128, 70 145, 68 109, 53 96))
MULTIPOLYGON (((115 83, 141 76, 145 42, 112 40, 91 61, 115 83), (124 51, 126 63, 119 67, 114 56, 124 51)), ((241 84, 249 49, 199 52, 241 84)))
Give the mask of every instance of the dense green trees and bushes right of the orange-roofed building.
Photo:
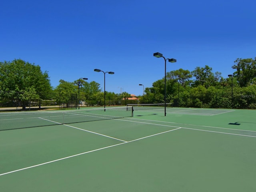
MULTIPOLYGON (((227 77, 208 65, 166 73, 166 101, 173 106, 256 109, 256 58, 237 59, 227 77)), ((164 102, 164 78, 145 89, 144 103, 164 102)))

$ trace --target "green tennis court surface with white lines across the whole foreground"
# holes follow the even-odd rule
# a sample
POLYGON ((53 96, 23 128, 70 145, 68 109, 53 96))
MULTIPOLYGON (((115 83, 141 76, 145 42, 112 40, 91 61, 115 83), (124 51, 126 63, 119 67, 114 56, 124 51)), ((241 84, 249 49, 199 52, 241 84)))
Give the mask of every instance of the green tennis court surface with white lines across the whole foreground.
POLYGON ((256 191, 256 110, 166 112, 0 131, 1 192, 256 191))

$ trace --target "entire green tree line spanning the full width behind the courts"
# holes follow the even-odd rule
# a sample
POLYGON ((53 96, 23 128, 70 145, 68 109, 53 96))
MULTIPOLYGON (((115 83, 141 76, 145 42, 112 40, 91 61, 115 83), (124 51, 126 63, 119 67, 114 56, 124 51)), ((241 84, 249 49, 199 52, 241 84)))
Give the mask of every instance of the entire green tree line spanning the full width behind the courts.
MULTIPOLYGON (((256 58, 234 61, 236 71, 228 77, 212 72, 208 65, 193 71, 174 70, 166 73, 166 102, 177 107, 197 108, 256 108, 256 58)), ((144 96, 128 100, 130 94, 105 92, 106 105, 135 103, 163 103, 164 78, 145 88, 144 96)), ((83 79, 67 82, 60 80, 52 88, 48 72, 40 66, 21 59, 0 62, 0 106, 22 106, 31 104, 57 104, 66 106, 104 105, 104 92, 95 81, 83 79), (79 96, 78 96, 79 93, 79 96)))

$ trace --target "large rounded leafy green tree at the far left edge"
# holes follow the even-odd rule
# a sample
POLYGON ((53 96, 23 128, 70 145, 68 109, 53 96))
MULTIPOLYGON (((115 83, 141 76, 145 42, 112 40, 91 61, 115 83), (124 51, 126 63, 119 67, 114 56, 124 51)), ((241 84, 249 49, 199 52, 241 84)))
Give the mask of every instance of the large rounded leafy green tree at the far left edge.
MULTIPOLYGON (((33 92, 34 98, 40 96, 41 99, 48 98, 52 91, 48 72, 42 72, 40 66, 21 59, 0 62, 0 89, 2 97, 4 92, 33 92)), ((11 97, 14 98, 13 95, 11 97)), ((28 104, 28 100, 24 98, 24 95, 16 97, 16 100, 22 104, 23 110, 28 104)))

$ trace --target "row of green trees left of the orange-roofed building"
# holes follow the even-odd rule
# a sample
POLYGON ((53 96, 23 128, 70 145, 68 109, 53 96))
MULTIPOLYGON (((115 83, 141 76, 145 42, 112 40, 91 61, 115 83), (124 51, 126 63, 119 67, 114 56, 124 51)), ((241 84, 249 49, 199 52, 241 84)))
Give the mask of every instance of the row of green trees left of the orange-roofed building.
MULTIPOLYGON (((106 92, 106 104, 125 104, 129 96, 127 92, 106 92)), ((86 106, 103 105, 104 92, 100 84, 83 79, 60 80, 59 85, 52 88, 48 72, 42 72, 40 66, 21 59, 0 62, 0 107, 22 106, 23 110, 31 105, 76 107, 82 102, 86 106)))

